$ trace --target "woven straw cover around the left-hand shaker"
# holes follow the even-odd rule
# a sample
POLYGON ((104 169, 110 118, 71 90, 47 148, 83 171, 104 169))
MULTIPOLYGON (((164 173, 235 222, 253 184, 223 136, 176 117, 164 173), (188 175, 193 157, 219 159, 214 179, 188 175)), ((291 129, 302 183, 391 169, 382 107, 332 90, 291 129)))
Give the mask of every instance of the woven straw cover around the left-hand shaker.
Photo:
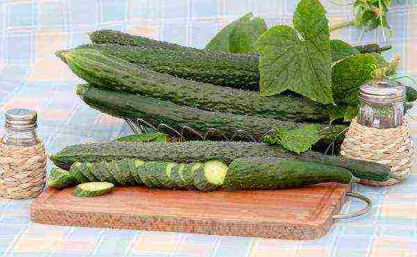
POLYGON ((42 143, 31 147, 0 144, 0 196, 38 197, 46 182, 47 152, 42 143))

